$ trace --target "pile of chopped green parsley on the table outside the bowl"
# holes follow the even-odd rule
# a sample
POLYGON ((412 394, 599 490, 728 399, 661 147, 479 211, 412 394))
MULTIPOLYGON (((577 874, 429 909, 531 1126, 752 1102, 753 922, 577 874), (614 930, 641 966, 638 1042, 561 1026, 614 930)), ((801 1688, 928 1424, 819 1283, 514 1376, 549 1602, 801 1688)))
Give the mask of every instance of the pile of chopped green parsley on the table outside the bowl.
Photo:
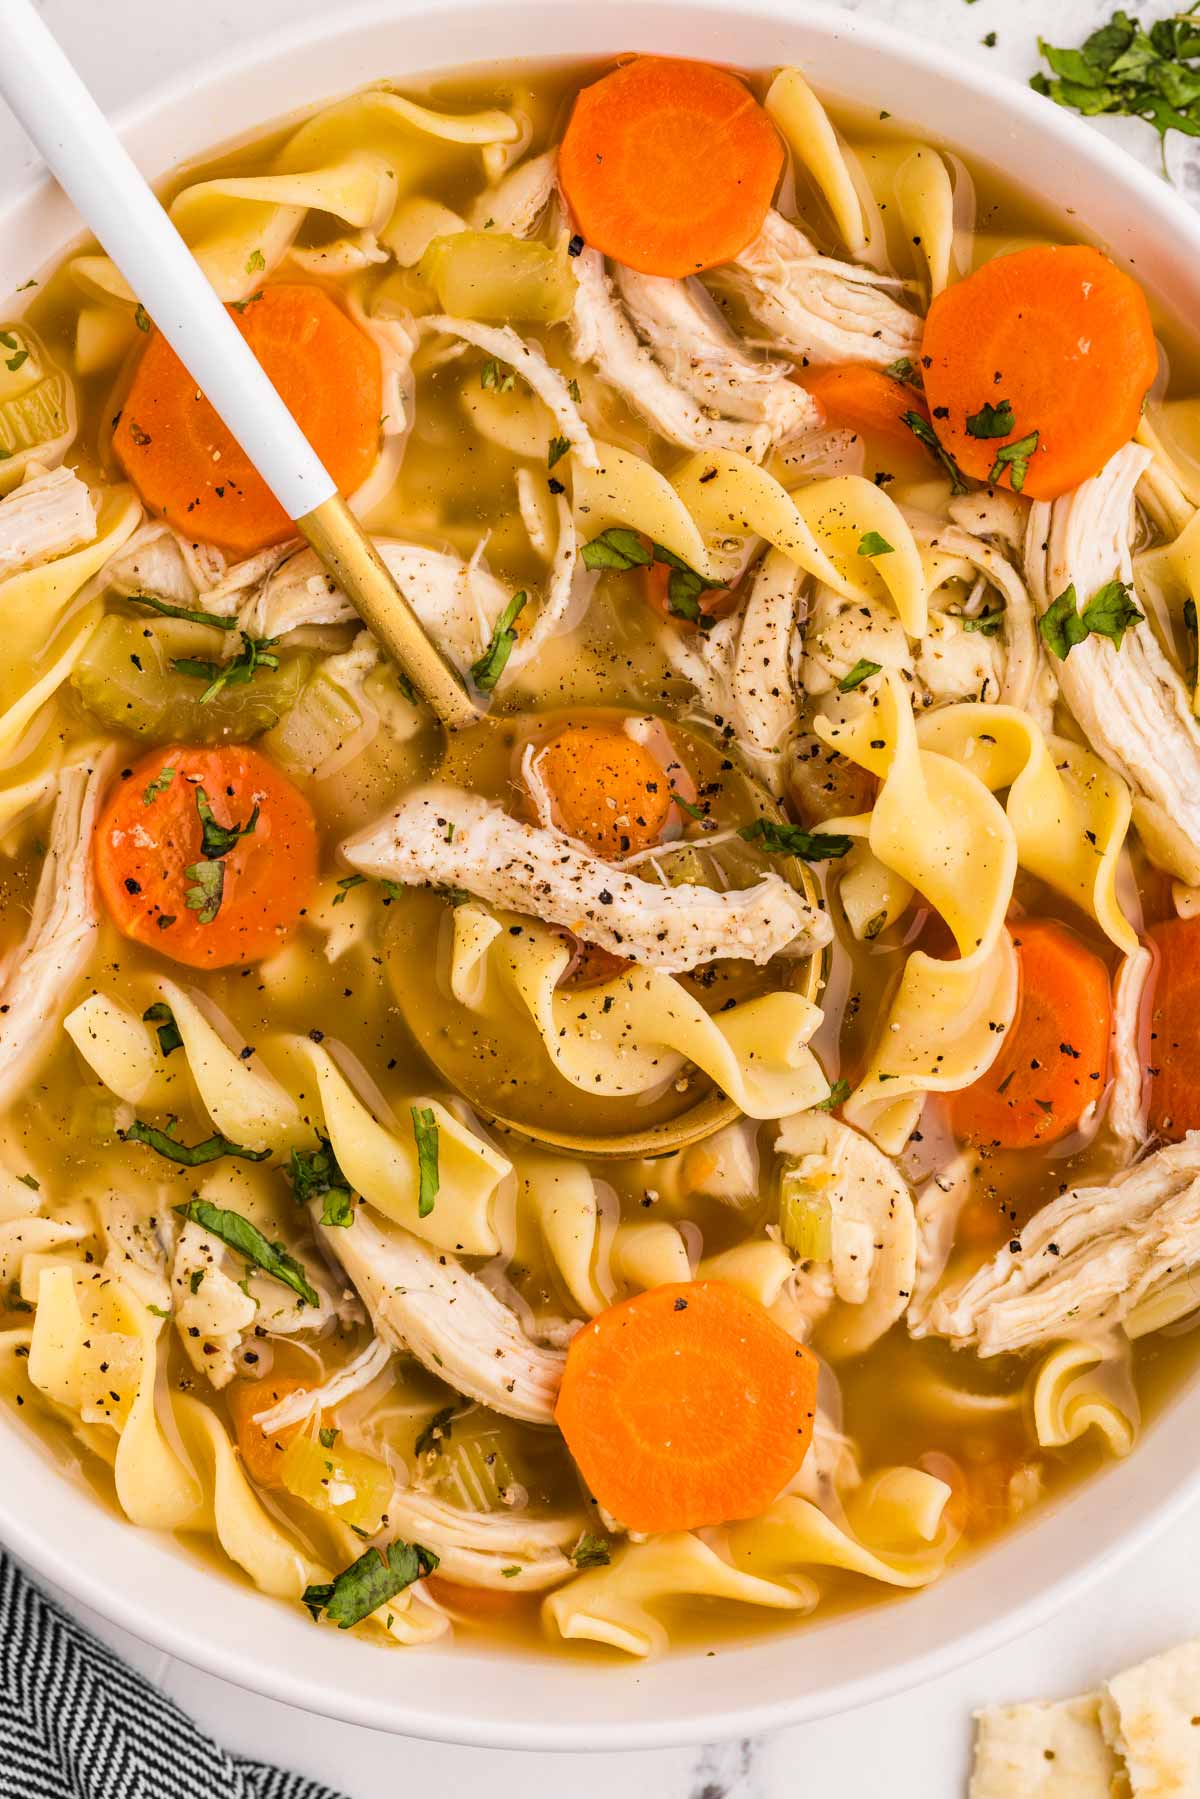
POLYGON ((1051 77, 1029 86, 1060 106, 1094 117, 1124 113, 1159 133, 1166 169, 1166 133, 1200 137, 1200 22, 1195 7, 1162 18, 1150 31, 1128 13, 1114 13, 1078 50, 1038 38, 1051 77))

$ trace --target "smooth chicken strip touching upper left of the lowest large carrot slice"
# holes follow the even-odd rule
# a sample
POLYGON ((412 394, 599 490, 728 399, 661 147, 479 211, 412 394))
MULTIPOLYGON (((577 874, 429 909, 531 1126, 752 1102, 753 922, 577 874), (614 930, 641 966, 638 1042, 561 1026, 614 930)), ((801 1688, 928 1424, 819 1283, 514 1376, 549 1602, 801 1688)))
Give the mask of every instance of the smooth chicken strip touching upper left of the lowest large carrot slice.
POLYGON ((318 1229, 385 1342, 493 1412, 554 1421, 563 1351, 533 1342, 462 1263, 398 1225, 383 1227, 365 1205, 349 1229, 318 1229))

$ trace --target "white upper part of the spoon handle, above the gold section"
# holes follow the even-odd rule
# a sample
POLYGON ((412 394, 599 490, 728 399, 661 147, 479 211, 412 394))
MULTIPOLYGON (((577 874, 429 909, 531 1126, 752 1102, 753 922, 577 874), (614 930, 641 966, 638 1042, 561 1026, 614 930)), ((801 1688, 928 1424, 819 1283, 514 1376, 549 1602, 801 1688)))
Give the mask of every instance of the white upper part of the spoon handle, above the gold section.
POLYGON ((288 518, 329 500, 320 457, 31 0, 0 0, 0 94, 288 518))

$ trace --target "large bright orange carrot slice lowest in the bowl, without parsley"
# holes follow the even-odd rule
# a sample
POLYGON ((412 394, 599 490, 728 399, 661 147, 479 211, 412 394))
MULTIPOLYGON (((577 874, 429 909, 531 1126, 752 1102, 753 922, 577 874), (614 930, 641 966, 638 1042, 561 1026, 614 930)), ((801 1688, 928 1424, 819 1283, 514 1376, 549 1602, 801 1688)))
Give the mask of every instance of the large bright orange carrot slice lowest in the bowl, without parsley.
POLYGON ((631 1531, 754 1518, 813 1434, 817 1358, 723 1281, 653 1286, 574 1337, 554 1419, 631 1531))

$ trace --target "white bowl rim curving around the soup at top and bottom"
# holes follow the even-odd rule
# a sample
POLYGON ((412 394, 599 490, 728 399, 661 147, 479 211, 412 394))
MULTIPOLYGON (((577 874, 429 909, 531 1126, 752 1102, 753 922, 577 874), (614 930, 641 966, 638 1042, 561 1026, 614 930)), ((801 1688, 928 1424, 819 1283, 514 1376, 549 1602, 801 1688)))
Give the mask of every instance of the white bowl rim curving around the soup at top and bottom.
MULTIPOLYGON (((1061 146, 1074 162, 1090 164, 1094 171, 1106 176, 1126 209, 1137 209, 1141 218, 1141 236, 1159 239, 1159 246, 1171 245, 1166 281, 1168 288, 1187 290, 1184 263, 1200 266, 1200 218, 1196 218, 1184 200, 1168 189, 1155 175, 1141 167, 1135 158, 1115 144, 1088 130, 1083 121, 1065 113, 1061 108, 1040 101, 1027 88, 1009 77, 997 81, 982 67, 964 63, 952 50, 928 41, 912 41, 894 27, 880 25, 860 14, 835 11, 808 0, 617 0, 612 7, 596 9, 604 18, 619 14, 622 23, 631 23, 630 38, 635 36, 637 22, 648 27, 662 27, 664 22, 716 22, 720 27, 739 27, 747 22, 777 29, 781 40, 790 40, 788 49, 808 34, 813 40, 849 47, 849 56, 882 54, 898 65, 914 85, 921 81, 945 81, 964 99, 970 99, 982 112, 1007 121, 1013 133, 1025 131, 1047 153, 1061 146), (1175 279, 1177 277, 1177 279, 1175 279)), ((122 137, 133 142, 153 140, 155 128, 160 128, 176 106, 189 115, 189 128, 200 133, 198 101, 216 99, 216 90, 225 83, 241 83, 246 77, 264 77, 272 68, 286 68, 288 61, 313 56, 324 45, 336 45, 394 27, 405 16, 419 16, 419 0, 372 0, 372 4, 353 7, 336 18, 324 16, 309 20, 300 27, 277 32, 273 38, 257 38, 234 52, 205 59, 194 68, 182 72, 167 83, 155 85, 131 106, 115 115, 122 137)), ((545 22, 547 43, 554 45, 552 54, 583 56, 585 40, 588 47, 597 40, 597 25, 578 25, 585 18, 583 11, 554 5, 552 0, 441 0, 437 20, 441 27, 459 22, 461 43, 470 43, 470 34, 462 29, 471 18, 491 20, 513 14, 525 27, 534 18, 545 22)), ((615 27, 613 27, 615 36, 615 27)), ((783 47, 783 45, 781 45, 783 47)), ((700 49, 694 54, 703 54, 700 49)), ((543 61, 538 56, 538 61, 543 61)), ((410 58, 403 54, 403 40, 396 63, 405 68, 410 58)), ((416 63, 412 74, 426 68, 448 68, 450 61, 416 63)), ((828 92, 837 92, 837 83, 819 83, 828 92)), ((313 94, 309 104, 326 97, 313 94)), ((900 115, 900 113, 898 113, 900 115)), ((207 113, 205 117, 218 117, 207 113)), ((266 122, 266 121, 264 121, 266 122)), ((914 121, 916 122, 916 121, 914 121)), ((207 130, 207 128, 205 128, 207 130)), ((162 135, 162 133, 160 133, 162 135)), ((937 137, 937 133, 934 133, 937 137)), ((973 128, 970 117, 963 115, 959 131, 961 142, 970 142, 973 128)), ((954 146, 954 137, 946 133, 954 146)), ((210 142, 210 139, 207 139, 210 142)), ((184 158, 201 155, 205 142, 184 144, 184 158)), ((176 158, 180 160, 180 158, 176 158)), ((990 158, 984 158, 990 160, 990 158)), ((151 171, 158 175, 158 169, 151 171)), ((54 221, 54 257, 61 255, 63 245, 72 236, 74 214, 58 196, 54 183, 47 176, 18 182, 14 192, 0 207, 0 257, 5 239, 13 228, 27 225, 34 216, 34 207, 45 207, 54 221), (61 228, 59 228, 61 227, 61 228)), ((1087 218, 1079 219, 1087 228, 1087 218)), ((77 228, 77 221, 74 225, 77 228)), ((1159 270, 1162 275, 1162 268, 1159 270)), ((1159 282, 1162 286, 1162 282, 1159 282)), ((1196 277, 1193 277, 1193 297, 1196 277)), ((1168 304, 1175 293, 1164 293, 1168 304)), ((1195 304, 1195 300, 1193 300, 1195 304)), ((1182 309, 1177 306, 1177 309, 1182 309)), ((5 1443, 5 1468, 13 1468, 16 1479, 0 1484, 0 1531, 7 1547, 23 1560, 34 1572, 56 1583, 61 1590, 110 1619, 113 1624, 131 1632, 135 1637, 196 1666, 218 1678, 232 1680, 250 1691, 302 1707, 311 1713, 340 1718, 349 1723, 383 1729, 398 1734, 421 1736, 443 1741, 457 1741, 475 1747, 536 1749, 536 1750, 592 1750, 592 1749, 660 1749, 718 1738, 741 1736, 750 1732, 775 1731, 811 1718, 829 1716, 873 1700, 885 1698, 905 1687, 948 1673, 963 1662, 1000 1648, 1013 1637, 1034 1628, 1056 1610, 1067 1607, 1103 1572, 1115 1569, 1133 1553, 1144 1547, 1151 1536, 1166 1529, 1200 1497, 1200 1466, 1191 1463, 1186 1443, 1178 1439, 1187 1432, 1178 1428, 1164 1430, 1168 1416, 1178 1427, 1178 1414, 1195 1414, 1193 1423, 1200 1425, 1200 1382, 1191 1382, 1146 1432, 1139 1445, 1139 1455, 1146 1457, 1151 1445, 1160 1464, 1157 1491, 1160 1497, 1146 1504, 1141 1481, 1132 1475, 1130 1464, 1119 1464, 1101 1475, 1094 1475, 1083 1488, 1074 1490, 1067 1499, 1049 1506, 1029 1526, 1009 1531, 1002 1540, 1007 1547, 1011 1567, 1013 1549, 1020 1554, 1020 1544, 1033 1549, 1045 1549, 1051 1565, 1061 1556, 1063 1572, 1042 1581, 1034 1590, 1027 1590, 1015 1599, 1002 1599, 997 1610, 991 1599, 979 1605, 982 1594, 981 1581, 986 1581, 988 1565, 995 1567, 990 1587, 1000 1590, 1000 1565, 1006 1560, 1006 1547, 984 1551, 968 1562, 961 1571, 952 1571, 945 1581, 925 1594, 909 1596, 903 1608, 889 1605, 883 1608, 892 1623, 892 1635, 898 1639, 898 1653, 887 1666, 851 1673, 822 1684, 820 1669, 808 1689, 786 1689, 774 1696, 757 1696, 756 1669, 766 1666, 765 1657, 784 1662, 792 1657, 797 1664, 804 1659, 804 1642, 829 1644, 829 1632, 846 1630, 846 1614, 829 1623, 813 1623, 801 1633, 784 1637, 759 1637, 747 1650, 730 1655, 718 1655, 714 1660, 696 1655, 678 1655, 648 1668, 644 1664, 604 1668, 596 1662, 569 1662, 569 1675, 563 1677, 563 1659, 554 1657, 511 1657, 495 1659, 475 1651, 462 1653, 455 1646, 453 1653, 434 1648, 430 1651, 408 1648, 401 1666, 401 1678, 392 1691, 371 1691, 371 1682, 360 1677, 367 1669, 363 1655, 383 1664, 383 1651, 363 1646, 351 1639, 335 1639, 324 1632, 326 1650, 315 1648, 299 1664, 288 1664, 286 1657, 272 1662, 263 1646, 255 1648, 254 1623, 261 1619, 263 1639, 272 1637, 291 1641, 293 1632, 279 1630, 268 1621, 266 1608, 279 1608, 275 1599, 250 1594, 241 1587, 232 1589, 227 1581, 216 1580, 210 1571, 194 1565, 194 1560, 153 1533, 137 1531, 124 1518, 115 1520, 88 1491, 76 1491, 67 1475, 52 1466, 49 1455, 31 1441, 16 1418, 0 1418, 0 1436, 5 1443), (1175 1437, 1175 1441, 1171 1441, 1175 1437), (1164 1477, 1166 1470, 1166 1477, 1164 1477), (20 1499, 36 1500, 22 1509, 20 1499), (65 1518, 72 1517, 81 1536, 72 1536, 65 1527, 65 1518), (1079 1540, 1092 1533, 1092 1547, 1079 1554, 1079 1540), (121 1533, 121 1538, 113 1533, 121 1533), (95 1560, 81 1560, 76 1551, 79 1542, 104 1545, 112 1536, 117 1563, 126 1563, 137 1580, 117 1578, 108 1565, 95 1560), (124 1545, 124 1547, 122 1547, 124 1545), (184 1608, 167 1610, 158 1601, 153 1580, 157 1569, 191 1569, 189 1576, 164 1574, 178 1590, 198 1601, 198 1614, 184 1608), (200 1585, 203 1583, 203 1590, 200 1585), (973 1608, 979 1621, 970 1628, 950 1632, 939 1641, 921 1641, 928 1632, 923 1628, 928 1619, 946 1610, 946 1601, 939 1594, 957 1592, 966 1598, 968 1612, 973 1608), (221 1598, 225 1603, 221 1605, 221 1598), (205 1610, 209 1617, 200 1621, 205 1610), (223 1616, 228 1612, 228 1628, 223 1616), (900 1630, 894 1626, 900 1624, 900 1630), (786 1644, 786 1648, 784 1648, 786 1644), (329 1650, 336 1651, 335 1655, 329 1650), (703 1678, 703 1671, 716 1668, 729 1673, 734 1655, 743 1657, 748 1680, 743 1687, 752 1696, 730 1702, 720 1682, 712 1686, 703 1678), (322 1666, 327 1669, 322 1675, 322 1666), (405 1669, 434 1669, 426 1682, 428 1691, 416 1702, 407 1696, 410 1682, 403 1678, 405 1669), (533 1669, 538 1678, 531 1680, 533 1669), (448 1693, 437 1684, 437 1669, 444 1673, 448 1693), (493 1678, 504 1669, 515 1669, 516 1680, 506 1687, 509 1709, 480 1704, 484 1689, 473 1687, 473 1677, 493 1678), (658 1689, 669 1693, 669 1678, 655 1677, 655 1669, 682 1671, 682 1684, 687 1693, 662 1707, 655 1696, 658 1689), (524 1678, 522 1678, 524 1671, 524 1678), (533 1698, 529 1695, 533 1693, 533 1698), (543 1704, 540 1705, 540 1696, 543 1704), (615 1696, 613 1696, 615 1695, 615 1696), (648 1709, 649 1700, 649 1709, 648 1709), (515 1707, 515 1709, 513 1709, 515 1707), (542 1714, 536 1714, 536 1709, 542 1714)), ((1137 1457, 1135 1457, 1137 1459, 1137 1457)), ((1141 1473, 1141 1464, 1137 1473, 1141 1473)), ((1007 1592, 1007 1589, 1002 1589, 1007 1592)), ((297 1608, 299 1612, 299 1608, 297 1608)), ((851 1617, 871 1614, 851 1614, 851 1617)), ((880 1616, 874 1610, 873 1616, 880 1616)), ((311 1626, 302 1624, 308 1632, 311 1626)), ((300 1641, 299 1637, 295 1641, 300 1641)), ((317 1644, 315 1635, 306 1639, 317 1644)), ((390 1662, 390 1668, 398 1664, 390 1662)), ((421 1673, 425 1680, 425 1673, 421 1673)), ((419 1680, 416 1682, 421 1684, 419 1680)), ((500 1682, 504 1686, 504 1682, 500 1682)), ((675 1682, 680 1686, 680 1682, 675 1682)), ((793 1687, 799 1680, 793 1682, 793 1687)))

